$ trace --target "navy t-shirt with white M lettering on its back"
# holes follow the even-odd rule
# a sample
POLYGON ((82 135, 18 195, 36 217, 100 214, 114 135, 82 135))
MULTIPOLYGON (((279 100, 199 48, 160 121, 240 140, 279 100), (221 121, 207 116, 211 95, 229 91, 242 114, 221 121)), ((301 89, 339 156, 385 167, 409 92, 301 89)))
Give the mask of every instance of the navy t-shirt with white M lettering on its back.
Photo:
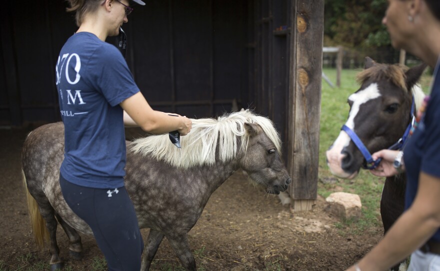
POLYGON ((119 103, 139 88, 122 54, 96 35, 79 32, 61 48, 55 75, 65 132, 62 176, 87 187, 123 186, 126 152, 119 103))

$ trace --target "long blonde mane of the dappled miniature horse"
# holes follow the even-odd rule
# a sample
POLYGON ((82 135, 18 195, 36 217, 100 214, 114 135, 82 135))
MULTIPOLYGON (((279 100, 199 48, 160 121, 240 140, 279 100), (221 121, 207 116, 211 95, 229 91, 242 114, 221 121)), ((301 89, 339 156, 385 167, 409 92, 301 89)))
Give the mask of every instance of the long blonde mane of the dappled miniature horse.
POLYGON ((244 123, 247 122, 259 124, 278 152, 281 152, 281 140, 272 121, 267 117, 252 113, 249 109, 224 114, 217 119, 191 120, 191 132, 180 137, 181 148, 171 143, 168 134, 138 138, 127 147, 135 153, 152 156, 180 168, 211 165, 215 163, 217 145, 218 158, 222 162, 233 159, 239 149, 246 152, 249 137, 244 123), (240 146, 237 143, 238 137, 241 142, 240 146))

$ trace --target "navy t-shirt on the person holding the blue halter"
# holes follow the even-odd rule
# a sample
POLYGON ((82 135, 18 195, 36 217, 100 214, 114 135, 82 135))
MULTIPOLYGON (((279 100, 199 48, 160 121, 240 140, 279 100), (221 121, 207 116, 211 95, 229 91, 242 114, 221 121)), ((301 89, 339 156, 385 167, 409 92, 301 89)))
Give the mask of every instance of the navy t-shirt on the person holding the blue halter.
MULTIPOLYGON (((415 198, 418 177, 421 171, 440 177, 440 69, 433 74, 430 99, 425 114, 404 148, 406 169, 405 209, 409 208, 415 198)), ((440 241, 440 229, 431 237, 440 241)))

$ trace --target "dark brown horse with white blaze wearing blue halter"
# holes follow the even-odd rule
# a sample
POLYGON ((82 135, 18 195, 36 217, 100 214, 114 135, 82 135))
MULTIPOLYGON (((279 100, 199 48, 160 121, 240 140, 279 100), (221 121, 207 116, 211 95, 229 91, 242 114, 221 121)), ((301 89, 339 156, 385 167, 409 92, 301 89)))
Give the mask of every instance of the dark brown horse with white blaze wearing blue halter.
MULTIPOLYGON (((425 67, 421 64, 407 69, 396 64, 379 64, 369 57, 365 59, 365 69, 357 75, 361 86, 348 97, 350 111, 345 125, 357 134, 370 153, 395 144, 411 125, 412 97, 414 109, 424 97, 416 82, 425 67)), ((365 167, 364 156, 343 130, 326 155, 332 174, 340 178, 354 178, 360 167, 365 167)), ((405 186, 405 174, 385 179, 380 200, 384 232, 403 212, 405 186)), ((396 265, 392 270, 398 268, 396 265)))

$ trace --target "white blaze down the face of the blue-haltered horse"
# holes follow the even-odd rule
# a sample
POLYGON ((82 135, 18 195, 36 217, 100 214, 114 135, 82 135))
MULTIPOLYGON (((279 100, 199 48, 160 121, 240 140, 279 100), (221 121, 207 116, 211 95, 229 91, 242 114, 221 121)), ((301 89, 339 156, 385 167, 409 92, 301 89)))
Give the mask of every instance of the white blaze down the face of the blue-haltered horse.
MULTIPOLYGON (((376 83, 372 83, 366 88, 351 94, 348 99, 352 102, 352 105, 345 125, 354 130, 354 118, 359 112, 360 105, 379 96, 380 92, 376 83)), ((358 173, 357 171, 349 173, 342 169, 342 159, 345 155, 341 152, 344 147, 348 146, 350 140, 348 134, 341 130, 331 148, 326 151, 327 165, 331 173, 340 178, 354 178, 358 173)))

